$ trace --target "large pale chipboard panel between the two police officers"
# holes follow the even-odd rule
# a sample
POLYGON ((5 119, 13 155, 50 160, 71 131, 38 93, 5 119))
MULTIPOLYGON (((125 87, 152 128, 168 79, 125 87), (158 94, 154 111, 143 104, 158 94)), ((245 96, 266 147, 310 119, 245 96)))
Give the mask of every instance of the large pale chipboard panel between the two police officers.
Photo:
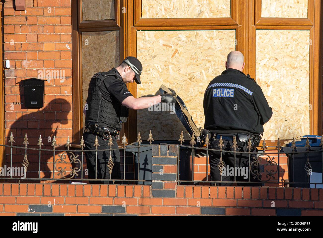
MULTIPOLYGON (((143 65, 137 96, 157 95, 161 84, 183 99, 198 128, 204 126, 203 95, 209 82, 225 70, 235 50, 234 30, 137 31, 137 57, 143 65)), ((137 128, 143 138, 149 130, 156 140, 190 137, 175 114, 137 111, 137 128)))

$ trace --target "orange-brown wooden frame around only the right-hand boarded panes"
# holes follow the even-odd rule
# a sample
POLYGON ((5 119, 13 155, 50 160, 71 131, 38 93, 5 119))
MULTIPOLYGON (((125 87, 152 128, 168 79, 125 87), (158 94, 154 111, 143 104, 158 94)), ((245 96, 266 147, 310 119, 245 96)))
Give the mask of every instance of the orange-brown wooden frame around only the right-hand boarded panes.
MULTIPOLYGON (((322 76, 320 76, 322 75, 322 4, 320 0, 308 0, 307 6, 307 18, 267 18, 261 17, 261 0, 249 0, 248 72, 251 77, 256 77, 257 29, 309 30, 312 40, 309 49, 309 104, 312 105, 312 110, 309 111, 310 134, 320 135, 322 133, 322 76), (316 60, 314 61, 314 59, 316 60)), ((276 142, 270 140, 266 140, 266 143, 267 145, 276 145, 276 142)))

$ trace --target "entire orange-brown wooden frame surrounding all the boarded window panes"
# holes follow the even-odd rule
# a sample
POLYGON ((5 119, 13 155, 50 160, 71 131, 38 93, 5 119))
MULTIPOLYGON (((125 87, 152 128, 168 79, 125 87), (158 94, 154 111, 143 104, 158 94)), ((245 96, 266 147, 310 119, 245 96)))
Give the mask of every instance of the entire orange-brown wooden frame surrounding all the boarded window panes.
MULTIPOLYGON (((73 143, 78 144, 82 131, 82 95, 81 85, 81 49, 80 31, 89 29, 88 21, 81 21, 81 11, 78 4, 81 0, 72 1, 72 58, 73 60, 73 143), (77 11, 73 9, 78 9, 77 11), (78 14, 80 12, 80 14, 78 14), (76 15, 76 16, 75 16, 76 15), (76 21, 75 19, 78 19, 76 21)), ((264 18, 261 17, 261 0, 231 0, 231 17, 224 18, 141 18, 141 0, 117 0, 116 22, 113 20, 96 21, 95 30, 107 27, 120 30, 120 61, 123 57, 137 56, 137 30, 236 30, 238 42, 236 50, 245 55, 245 74, 255 77, 255 37, 256 29, 294 29, 310 30, 310 133, 322 132, 322 9, 320 0, 308 0, 307 18, 264 18), (120 6, 119 8, 117 6, 120 6), (125 8, 125 11, 123 11, 125 8), (315 26, 314 26, 315 23, 315 26), (279 24, 277 26, 277 24, 279 24), (123 33, 123 37, 121 37, 123 33), (122 57, 123 55, 123 57, 122 57), (318 59, 315 60, 314 59, 318 59), (318 115, 318 116, 315 116, 318 115)), ((79 5, 80 6, 80 5, 79 5)), ((137 97, 137 85, 128 84, 129 91, 137 97)), ((123 133, 128 142, 137 138, 137 111, 130 109, 129 119, 124 124, 123 133), (131 128, 131 130, 130 130, 131 128)), ((268 141, 268 145, 271 142, 268 141)))

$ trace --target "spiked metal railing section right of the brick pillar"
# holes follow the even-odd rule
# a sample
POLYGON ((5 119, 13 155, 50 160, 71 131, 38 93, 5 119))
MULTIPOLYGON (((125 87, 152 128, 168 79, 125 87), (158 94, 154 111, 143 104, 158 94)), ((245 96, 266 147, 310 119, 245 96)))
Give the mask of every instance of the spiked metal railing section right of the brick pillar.
MULTIPOLYGON (((231 148, 232 150, 224 150, 224 144, 222 140, 222 136, 220 136, 218 148, 219 149, 210 149, 207 148, 208 146, 205 145, 210 145, 210 140, 207 136, 205 140, 205 148, 197 148, 194 147, 195 140, 194 140, 194 135, 191 138, 191 142, 189 145, 183 145, 182 142, 184 142, 182 134, 180 136, 180 145, 178 145, 178 157, 177 157, 177 182, 178 185, 180 184, 205 184, 205 183, 214 183, 214 184, 221 184, 221 183, 229 183, 231 185, 240 183, 240 184, 258 184, 258 186, 263 186, 265 183, 268 184, 269 186, 272 184, 279 184, 283 185, 285 187, 289 186, 294 186, 294 187, 309 187, 310 184, 313 184, 314 187, 317 187, 317 185, 322 185, 323 183, 323 137, 321 137, 320 140, 320 145, 318 147, 315 147, 315 150, 311 150, 311 145, 309 143, 308 137, 306 140, 305 146, 296 146, 295 139, 293 138, 291 146, 286 147, 286 146, 281 146, 280 139, 277 140, 277 145, 275 146, 266 146, 266 141, 265 139, 263 140, 263 145, 261 146, 261 150, 259 151, 254 151, 252 148, 252 143, 251 140, 246 144, 246 149, 247 151, 238 151, 238 146, 235 137, 233 137, 233 145, 231 148), (186 150, 188 154, 190 154, 191 161, 189 162, 189 167, 186 166, 186 170, 182 170, 183 164, 188 163, 188 161, 182 161, 185 160, 185 158, 181 157, 180 155, 182 153, 181 150, 186 150), (190 152, 189 152, 190 151, 190 152), (209 165, 209 159, 210 159, 210 153, 215 153, 217 152, 217 156, 219 158, 219 163, 218 163, 218 169, 220 172, 220 180, 215 181, 215 180, 210 180, 209 179, 209 171, 208 171, 208 165, 209 165), (194 171, 194 158, 196 157, 195 154, 198 153, 203 153, 203 157, 205 156, 205 166, 206 166, 206 172, 205 172, 205 178, 203 180, 201 179, 195 179, 196 173, 201 174, 198 171, 194 171), (222 180, 222 172, 225 170, 224 169, 224 156, 227 153, 234 154, 234 175, 231 176, 233 179, 231 181, 223 181, 222 180), (237 162, 237 155, 241 156, 242 154, 245 155, 245 157, 248 157, 248 166, 246 167, 248 169, 248 179, 243 179, 243 180, 236 180, 236 177, 239 176, 237 175, 237 170, 241 170, 243 168, 237 167, 236 162, 237 162), (281 169, 281 163, 280 159, 282 154, 284 154, 284 157, 287 157, 287 164, 288 166, 288 180, 280 180, 280 169, 281 169), (275 156, 277 158, 275 158, 275 156), (297 158, 296 158, 297 157, 297 158), (299 159, 301 157, 301 159, 299 159), (297 160, 297 166, 299 169, 300 163, 303 163, 303 169, 304 172, 306 173, 306 178, 305 181, 300 181, 302 179, 300 178, 299 174, 295 174, 295 161, 297 160), (288 162, 289 161, 289 162, 288 162), (303 161, 303 162, 302 162, 303 161), (312 162, 311 162, 312 161, 312 162), (312 163, 315 162, 315 170, 318 170, 321 174, 321 182, 311 182, 310 181, 310 175, 313 173, 313 168, 312 168, 312 163), (270 166, 270 169, 264 169, 265 166, 270 166), (319 167, 318 167, 319 166, 319 167), (182 174, 181 174, 182 170, 182 174), (184 171, 184 172, 183 172, 184 171), (188 176, 188 173, 190 173, 190 176, 188 176), (184 174, 184 175, 183 175, 184 174), (276 178, 275 178, 276 176, 276 178), (297 178, 297 181, 295 180, 297 178), (251 181, 253 180, 253 181, 251 181)), ((239 159, 239 158, 238 158, 239 159)), ((299 170, 298 170, 299 171, 299 170)), ((304 179, 303 179, 304 180, 304 179)), ((322 186, 320 186, 322 187, 322 186)))

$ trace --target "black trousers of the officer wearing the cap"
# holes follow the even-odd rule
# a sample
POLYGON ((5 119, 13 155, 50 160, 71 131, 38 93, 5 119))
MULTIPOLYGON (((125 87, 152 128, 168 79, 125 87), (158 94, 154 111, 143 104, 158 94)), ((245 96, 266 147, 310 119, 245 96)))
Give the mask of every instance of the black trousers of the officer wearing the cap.
MULTIPOLYGON (((94 141, 95 141, 96 135, 94 135, 91 132, 84 132, 83 134, 83 140, 84 140, 84 150, 95 150, 94 141)), ((117 140, 114 136, 112 136, 112 149, 119 148, 117 140)), ((89 151, 85 152, 86 157, 86 164, 87 168, 89 170, 89 178, 95 178, 95 171, 97 170, 97 179, 109 179, 110 173, 108 168, 108 162, 110 158, 110 151, 109 151, 109 140, 105 141, 102 139, 101 136, 98 136, 98 150, 104 150, 104 151, 98 151, 97 152, 97 160, 96 158, 96 152, 95 151, 89 151), (95 161, 97 161, 97 165, 95 164, 95 161), (96 169, 97 168, 97 169, 96 169)), ((113 161, 113 169, 111 174, 111 179, 121 179, 121 172, 120 172, 120 151, 119 150, 111 150, 111 159, 113 161)), ((89 181, 92 184, 110 184, 112 181, 89 181)), ((120 182, 116 181, 115 183, 121 184, 120 182)))

